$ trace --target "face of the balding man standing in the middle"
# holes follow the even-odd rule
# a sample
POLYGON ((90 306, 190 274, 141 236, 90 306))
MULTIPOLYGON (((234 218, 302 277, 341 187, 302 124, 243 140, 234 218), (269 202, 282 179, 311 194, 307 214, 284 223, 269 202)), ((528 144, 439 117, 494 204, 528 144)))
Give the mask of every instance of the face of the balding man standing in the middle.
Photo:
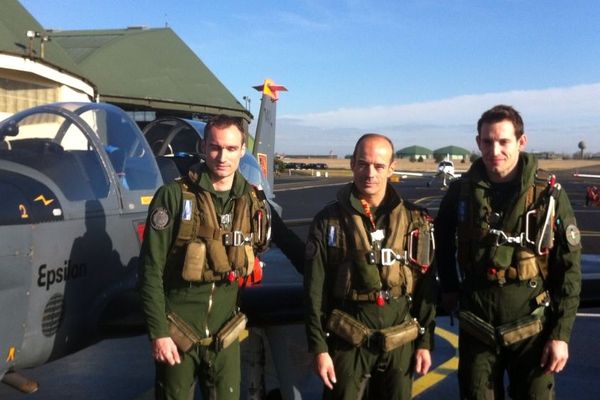
POLYGON ((364 139, 350 162, 354 185, 370 198, 383 199, 387 180, 394 173, 392 147, 382 138, 364 139))

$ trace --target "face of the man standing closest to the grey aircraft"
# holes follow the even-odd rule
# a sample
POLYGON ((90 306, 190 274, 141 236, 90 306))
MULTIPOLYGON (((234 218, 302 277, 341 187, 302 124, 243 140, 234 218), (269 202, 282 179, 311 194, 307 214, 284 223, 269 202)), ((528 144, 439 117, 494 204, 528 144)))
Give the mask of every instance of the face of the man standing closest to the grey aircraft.
POLYGON ((204 153, 213 179, 228 178, 238 169, 246 151, 246 146, 242 145, 242 135, 235 125, 211 129, 210 135, 204 140, 204 153))

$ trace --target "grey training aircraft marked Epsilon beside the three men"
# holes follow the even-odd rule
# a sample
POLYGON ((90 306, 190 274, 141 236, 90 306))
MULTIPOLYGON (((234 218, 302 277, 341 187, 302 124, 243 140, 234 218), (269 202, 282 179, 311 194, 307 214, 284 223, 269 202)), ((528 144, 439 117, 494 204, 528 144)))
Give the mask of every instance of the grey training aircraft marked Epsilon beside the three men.
MULTIPOLYGON (((273 91, 267 82, 265 87, 273 91)), ((272 100, 267 94, 263 101, 265 96, 272 100)), ((267 107, 274 138, 274 101, 267 107)), ((265 162, 273 155, 262 154, 265 162)), ((23 369, 114 333, 141 333, 140 244, 154 192, 185 168, 174 160, 155 158, 135 122, 109 104, 55 103, 0 122, 2 382, 34 392, 38 385, 23 369)), ((241 162, 246 177, 272 197, 261 166, 251 155, 241 162)), ((267 321, 269 314, 300 318, 301 277, 281 252, 267 252, 263 261, 268 266, 271 260, 278 265, 269 270, 281 273, 265 274, 262 286, 247 290, 248 314, 264 295, 295 290, 295 302, 269 301, 260 314, 267 321)))

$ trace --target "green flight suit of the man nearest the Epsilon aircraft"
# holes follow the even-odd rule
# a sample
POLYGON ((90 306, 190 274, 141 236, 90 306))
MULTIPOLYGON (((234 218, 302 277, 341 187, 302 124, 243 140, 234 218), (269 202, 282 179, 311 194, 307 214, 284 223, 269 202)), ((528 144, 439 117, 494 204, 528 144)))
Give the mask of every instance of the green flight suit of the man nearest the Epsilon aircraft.
MULTIPOLYGON (((215 192, 205 166, 200 167, 193 181, 183 179, 188 180, 191 191, 210 194, 217 220, 228 213, 235 219, 235 204, 254 190, 239 171, 227 192, 215 192)), ((166 184, 156 192, 148 211, 141 252, 140 292, 150 339, 170 336, 168 312, 176 313, 202 338, 213 337, 237 312, 237 279, 190 282, 182 277, 185 251, 176 243, 182 218, 190 214, 190 209, 186 210, 182 204, 182 197, 181 182, 166 184)), ((194 344, 188 352, 179 353, 181 364, 156 363, 157 398, 187 399, 196 378, 205 399, 239 398, 241 371, 237 340, 219 351, 213 342, 206 346, 194 344)))

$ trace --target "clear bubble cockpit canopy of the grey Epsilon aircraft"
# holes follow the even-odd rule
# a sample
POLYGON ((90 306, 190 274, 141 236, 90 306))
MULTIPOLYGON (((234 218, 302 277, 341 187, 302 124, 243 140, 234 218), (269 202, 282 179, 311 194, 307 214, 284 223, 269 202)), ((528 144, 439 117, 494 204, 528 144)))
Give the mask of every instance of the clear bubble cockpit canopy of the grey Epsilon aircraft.
POLYGON ((69 201, 102 199, 160 185, 154 155, 121 109, 101 103, 50 104, 0 122, 3 170, 39 174, 69 201), (110 169, 114 174, 110 174, 110 169), (116 181, 116 182, 114 182, 116 181))

